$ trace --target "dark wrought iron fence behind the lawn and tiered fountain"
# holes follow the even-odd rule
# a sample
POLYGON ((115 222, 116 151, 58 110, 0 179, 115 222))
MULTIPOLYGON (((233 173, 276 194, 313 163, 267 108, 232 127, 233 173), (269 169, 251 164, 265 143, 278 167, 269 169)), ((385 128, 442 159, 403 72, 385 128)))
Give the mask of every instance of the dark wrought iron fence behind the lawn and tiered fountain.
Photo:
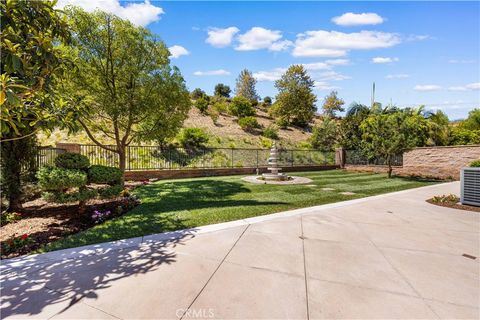
MULTIPOLYGON (((334 165, 335 153, 318 150, 279 150, 281 166, 334 165)), ((118 166, 118 154, 97 145, 80 145, 80 153, 91 164, 118 166)), ((237 148, 161 148, 158 146, 129 146, 126 151, 126 170, 174 170, 198 168, 266 167, 268 149, 237 148)))

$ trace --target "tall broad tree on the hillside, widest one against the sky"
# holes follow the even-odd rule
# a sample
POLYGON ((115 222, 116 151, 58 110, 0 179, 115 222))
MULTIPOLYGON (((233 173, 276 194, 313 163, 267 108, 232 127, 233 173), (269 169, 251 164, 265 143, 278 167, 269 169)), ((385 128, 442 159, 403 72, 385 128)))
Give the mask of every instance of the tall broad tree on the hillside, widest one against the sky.
POLYGON ((302 65, 292 65, 275 81, 278 94, 270 113, 288 124, 306 126, 315 115, 314 81, 302 65))

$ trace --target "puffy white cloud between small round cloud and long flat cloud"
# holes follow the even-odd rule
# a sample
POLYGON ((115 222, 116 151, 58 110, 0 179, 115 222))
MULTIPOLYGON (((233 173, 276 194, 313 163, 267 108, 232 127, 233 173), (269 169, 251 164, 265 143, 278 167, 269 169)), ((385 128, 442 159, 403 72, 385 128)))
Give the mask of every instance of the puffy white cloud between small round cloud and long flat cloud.
POLYGON ((251 51, 269 49, 271 51, 282 51, 292 45, 289 40, 280 40, 282 32, 269 30, 262 27, 253 27, 244 34, 238 36, 238 45, 235 50, 251 51))

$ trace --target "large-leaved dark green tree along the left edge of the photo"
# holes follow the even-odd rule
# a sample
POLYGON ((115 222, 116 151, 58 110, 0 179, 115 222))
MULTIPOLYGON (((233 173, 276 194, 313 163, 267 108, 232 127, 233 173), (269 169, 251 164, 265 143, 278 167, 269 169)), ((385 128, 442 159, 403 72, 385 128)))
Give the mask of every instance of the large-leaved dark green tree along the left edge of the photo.
POLYGON ((74 110, 55 90, 71 69, 62 45, 70 33, 55 2, 0 2, 1 183, 9 210, 21 207, 22 168, 35 163, 35 134, 74 122, 74 110))

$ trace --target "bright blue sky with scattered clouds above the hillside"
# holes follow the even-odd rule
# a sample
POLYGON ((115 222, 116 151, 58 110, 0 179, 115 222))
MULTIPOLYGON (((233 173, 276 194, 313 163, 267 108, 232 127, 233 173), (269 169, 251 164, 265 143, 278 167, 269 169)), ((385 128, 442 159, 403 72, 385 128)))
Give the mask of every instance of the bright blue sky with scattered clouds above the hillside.
POLYGON ((374 81, 384 104, 425 104, 451 119, 480 106, 479 2, 74 2, 159 35, 190 90, 233 89, 247 68, 260 96, 274 97, 274 80, 304 64, 318 106, 331 90, 369 104, 374 81))

